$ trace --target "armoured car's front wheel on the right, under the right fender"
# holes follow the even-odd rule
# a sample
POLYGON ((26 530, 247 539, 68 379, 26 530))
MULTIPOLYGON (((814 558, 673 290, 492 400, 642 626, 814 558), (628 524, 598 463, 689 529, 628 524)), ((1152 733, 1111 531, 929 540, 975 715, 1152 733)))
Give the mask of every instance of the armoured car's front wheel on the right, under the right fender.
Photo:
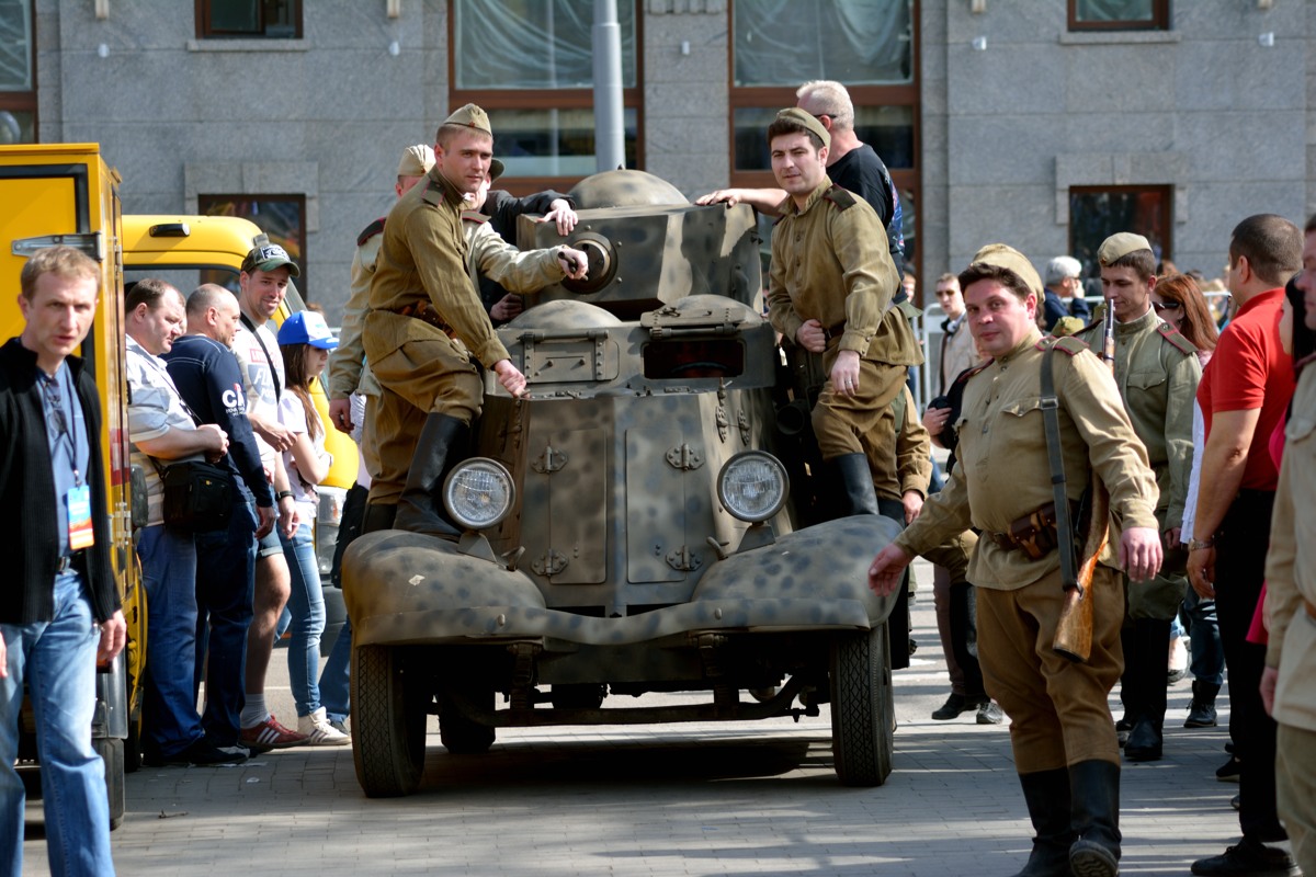
POLYGON ((879 786, 891 773, 891 652, 887 626, 832 643, 832 757, 848 786, 879 786))

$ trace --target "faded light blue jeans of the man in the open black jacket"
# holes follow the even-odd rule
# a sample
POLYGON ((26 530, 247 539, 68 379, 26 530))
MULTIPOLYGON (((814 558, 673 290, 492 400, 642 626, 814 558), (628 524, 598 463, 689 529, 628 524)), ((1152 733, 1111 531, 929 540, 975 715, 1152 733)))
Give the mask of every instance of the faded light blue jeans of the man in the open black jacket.
POLYGON ((28 684, 37 723, 51 874, 113 874, 105 765, 91 746, 100 631, 76 572, 57 576, 49 622, 0 625, 9 676, 0 678, 0 874, 22 873, 18 713, 28 684))

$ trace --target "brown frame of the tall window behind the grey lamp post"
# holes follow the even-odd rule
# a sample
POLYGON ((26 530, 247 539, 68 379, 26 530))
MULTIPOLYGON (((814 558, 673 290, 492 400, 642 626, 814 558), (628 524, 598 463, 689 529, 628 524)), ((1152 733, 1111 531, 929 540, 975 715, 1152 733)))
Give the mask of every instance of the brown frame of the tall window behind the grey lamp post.
MULTIPOLYGON (((621 0, 625 3, 628 0, 621 0)), ((636 5, 636 85, 621 89, 621 108, 636 110, 636 164, 645 167, 645 110, 644 110, 644 4, 636 5)), ((486 112, 500 109, 588 109, 594 110, 592 88, 458 88, 457 83, 457 3, 447 4, 447 105, 451 108, 475 104, 486 112)), ((497 158, 497 126, 494 128, 494 156, 497 158)), ((567 192, 583 176, 501 176, 499 188, 517 197, 546 189, 567 192)))

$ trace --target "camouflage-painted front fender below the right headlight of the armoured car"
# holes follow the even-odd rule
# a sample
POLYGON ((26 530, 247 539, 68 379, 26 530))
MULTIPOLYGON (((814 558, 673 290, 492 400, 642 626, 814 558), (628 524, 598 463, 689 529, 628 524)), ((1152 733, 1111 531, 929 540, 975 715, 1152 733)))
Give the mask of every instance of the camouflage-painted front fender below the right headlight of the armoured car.
POLYGON ((796 530, 713 564, 694 600, 782 601, 790 615, 782 626, 876 626, 891 614, 896 597, 869 589, 869 565, 898 535, 900 525, 874 514, 796 530))

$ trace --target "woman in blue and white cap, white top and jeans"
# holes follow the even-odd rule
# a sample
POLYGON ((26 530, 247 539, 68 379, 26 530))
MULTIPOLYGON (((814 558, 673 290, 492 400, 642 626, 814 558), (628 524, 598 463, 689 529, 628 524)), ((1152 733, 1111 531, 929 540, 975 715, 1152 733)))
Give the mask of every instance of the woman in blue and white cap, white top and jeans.
POLYGON ((292 573, 288 597, 292 639, 288 643, 288 682, 297 705, 297 732, 307 746, 345 746, 351 738, 329 724, 320 705, 320 635, 325 628, 325 601, 316 557, 315 519, 318 496, 316 485, 329 475, 333 456, 325 451, 325 427, 311 401, 311 381, 329 362, 338 341, 324 317, 311 310, 292 314, 279 327, 279 350, 287 392, 279 400, 280 418, 293 434, 291 448, 283 452, 292 498, 300 523, 291 538, 283 538, 283 555, 292 573))

